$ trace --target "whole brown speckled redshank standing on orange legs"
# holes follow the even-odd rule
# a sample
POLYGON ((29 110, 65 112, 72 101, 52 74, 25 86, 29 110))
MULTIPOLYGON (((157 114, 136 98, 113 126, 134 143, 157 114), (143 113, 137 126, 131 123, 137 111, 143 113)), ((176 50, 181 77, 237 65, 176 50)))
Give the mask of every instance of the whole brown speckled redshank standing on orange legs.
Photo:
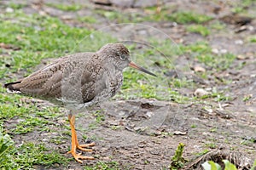
POLYGON ((121 43, 108 43, 96 53, 71 54, 56 59, 39 71, 16 82, 4 84, 11 93, 31 95, 66 105, 70 110, 68 120, 72 132, 71 153, 76 161, 94 159, 81 156, 76 150, 91 151, 95 145, 79 144, 75 131, 77 111, 113 97, 123 82, 123 70, 130 66, 156 77, 143 67, 131 62, 130 53, 121 43))

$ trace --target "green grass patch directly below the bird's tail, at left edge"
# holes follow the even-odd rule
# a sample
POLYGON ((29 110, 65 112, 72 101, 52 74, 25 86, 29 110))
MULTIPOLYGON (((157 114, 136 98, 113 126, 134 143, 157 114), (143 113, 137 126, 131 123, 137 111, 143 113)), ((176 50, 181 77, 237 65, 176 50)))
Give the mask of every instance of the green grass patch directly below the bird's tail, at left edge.
POLYGON ((47 128, 50 122, 55 117, 60 116, 61 113, 58 107, 45 107, 39 108, 32 103, 22 102, 24 97, 17 94, 4 94, 5 89, 0 88, 0 123, 8 121, 10 119, 18 119, 14 128, 10 129, 9 133, 20 134, 29 133, 34 130, 35 127, 39 127, 41 131, 49 131, 47 128))

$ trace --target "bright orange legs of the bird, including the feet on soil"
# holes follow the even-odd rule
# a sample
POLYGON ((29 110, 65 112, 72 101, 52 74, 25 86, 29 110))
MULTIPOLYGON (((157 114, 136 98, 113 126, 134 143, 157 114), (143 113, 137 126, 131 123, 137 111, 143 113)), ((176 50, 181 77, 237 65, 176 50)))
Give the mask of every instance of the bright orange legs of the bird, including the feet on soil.
POLYGON ((73 116, 72 114, 69 114, 68 115, 68 120, 69 120, 70 127, 71 127, 71 150, 67 153, 71 153, 73 155, 73 157, 75 158, 75 160, 79 161, 80 163, 83 162, 81 160, 93 160, 94 157, 92 157, 92 156, 81 156, 80 153, 79 154, 76 153, 76 149, 83 150, 83 151, 92 151, 92 150, 86 149, 86 148, 90 147, 90 146, 94 146, 95 143, 80 144, 79 145, 77 133, 76 133, 76 130, 75 130, 75 127, 74 127, 75 116, 73 116))

